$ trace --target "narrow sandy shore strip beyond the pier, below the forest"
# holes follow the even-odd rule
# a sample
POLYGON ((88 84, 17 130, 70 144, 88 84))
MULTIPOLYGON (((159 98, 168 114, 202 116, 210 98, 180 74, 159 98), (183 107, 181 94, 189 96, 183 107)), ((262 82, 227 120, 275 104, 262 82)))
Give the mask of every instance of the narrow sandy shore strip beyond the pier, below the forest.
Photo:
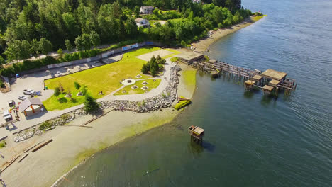
POLYGON ((194 45, 195 50, 194 52, 199 52, 204 54, 206 50, 209 49, 210 45, 214 44, 214 42, 220 40, 221 38, 225 37, 226 35, 229 35, 231 33, 235 33, 237 30, 240 30, 241 28, 248 27, 252 25, 253 23, 259 21, 264 16, 250 16, 249 18, 245 18, 244 21, 241 23, 238 23, 234 26, 228 27, 228 28, 219 28, 218 30, 214 31, 213 34, 211 34, 208 38, 204 38, 202 40, 199 40, 197 42, 194 42, 192 45, 194 45), (255 19, 258 18, 258 19, 255 19))

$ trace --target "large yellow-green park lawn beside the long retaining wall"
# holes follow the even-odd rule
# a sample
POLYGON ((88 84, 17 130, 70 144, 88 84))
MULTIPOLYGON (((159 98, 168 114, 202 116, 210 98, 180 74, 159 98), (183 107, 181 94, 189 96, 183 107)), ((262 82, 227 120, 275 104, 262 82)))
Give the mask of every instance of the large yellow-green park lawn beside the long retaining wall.
POLYGON ((74 81, 77 81, 81 84, 81 86, 86 85, 88 93, 94 98, 101 98, 120 88, 122 86, 122 84, 120 84, 122 79, 128 79, 128 77, 135 79, 135 76, 138 74, 142 76, 140 79, 151 78, 150 76, 143 75, 140 72, 140 69, 142 69, 143 64, 146 62, 136 57, 155 50, 160 50, 160 48, 140 48, 138 50, 125 53, 122 60, 119 62, 45 81, 45 86, 48 86, 48 89, 55 89, 55 87, 59 86, 61 83, 62 87, 65 89, 65 92, 70 89, 73 98, 76 99, 76 101, 73 102, 68 98, 63 98, 65 94, 58 97, 51 96, 43 102, 45 108, 48 111, 62 110, 84 103, 84 96, 76 97, 78 91, 74 88, 74 81), (98 95, 99 91, 103 91, 104 95, 98 95), (58 98, 62 99, 57 101, 58 98))

